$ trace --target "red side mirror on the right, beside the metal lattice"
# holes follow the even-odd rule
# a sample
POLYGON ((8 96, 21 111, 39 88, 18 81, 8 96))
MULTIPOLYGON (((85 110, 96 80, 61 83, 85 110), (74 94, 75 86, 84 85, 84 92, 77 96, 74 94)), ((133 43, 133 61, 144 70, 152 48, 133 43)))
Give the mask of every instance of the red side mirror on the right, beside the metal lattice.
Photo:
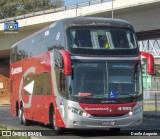
POLYGON ((147 52, 141 52, 141 56, 145 57, 147 60, 147 72, 149 75, 153 75, 154 73, 154 58, 153 55, 147 52))

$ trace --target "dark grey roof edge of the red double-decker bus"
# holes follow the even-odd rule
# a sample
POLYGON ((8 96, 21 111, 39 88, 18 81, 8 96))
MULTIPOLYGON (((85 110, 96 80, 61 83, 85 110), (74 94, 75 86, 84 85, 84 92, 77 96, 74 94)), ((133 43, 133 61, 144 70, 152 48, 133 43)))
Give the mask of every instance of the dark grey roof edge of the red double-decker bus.
POLYGON ((74 26, 114 26, 114 27, 128 27, 133 28, 132 24, 128 21, 122 19, 115 19, 115 18, 100 18, 100 17, 73 17, 73 18, 66 18, 60 19, 51 25, 44 27, 43 29, 33 33, 32 35, 23 38, 22 40, 18 41, 17 43, 13 44, 11 48, 14 48, 17 44, 28 40, 31 37, 36 36, 37 34, 48 30, 48 28, 52 28, 55 25, 62 24, 65 28, 74 27, 74 26))

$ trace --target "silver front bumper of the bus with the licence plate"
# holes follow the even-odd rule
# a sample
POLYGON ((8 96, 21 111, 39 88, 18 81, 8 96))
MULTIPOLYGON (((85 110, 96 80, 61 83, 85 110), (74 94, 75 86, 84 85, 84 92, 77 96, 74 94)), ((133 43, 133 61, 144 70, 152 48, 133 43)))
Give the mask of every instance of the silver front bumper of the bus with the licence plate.
POLYGON ((132 116, 124 115, 121 117, 83 117, 71 112, 68 113, 69 118, 66 121, 66 128, 74 129, 106 129, 106 128, 122 128, 134 127, 142 124, 143 112, 139 112, 132 116))

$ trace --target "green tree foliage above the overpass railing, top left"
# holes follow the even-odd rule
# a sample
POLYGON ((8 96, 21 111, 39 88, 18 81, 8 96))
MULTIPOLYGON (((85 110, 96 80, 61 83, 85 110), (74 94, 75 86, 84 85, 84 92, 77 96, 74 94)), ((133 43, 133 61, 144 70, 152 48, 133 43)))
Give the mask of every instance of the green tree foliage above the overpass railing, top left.
POLYGON ((63 6, 63 0, 0 0, 0 19, 63 6))

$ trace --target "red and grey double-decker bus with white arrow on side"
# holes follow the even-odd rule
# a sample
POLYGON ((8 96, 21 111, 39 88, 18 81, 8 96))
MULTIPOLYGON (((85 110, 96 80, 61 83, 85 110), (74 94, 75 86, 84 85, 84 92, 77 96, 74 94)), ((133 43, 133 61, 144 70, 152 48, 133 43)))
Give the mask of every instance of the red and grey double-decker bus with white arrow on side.
POLYGON ((141 53, 133 26, 120 19, 59 20, 11 49, 10 112, 63 128, 138 126, 143 119, 141 53))

